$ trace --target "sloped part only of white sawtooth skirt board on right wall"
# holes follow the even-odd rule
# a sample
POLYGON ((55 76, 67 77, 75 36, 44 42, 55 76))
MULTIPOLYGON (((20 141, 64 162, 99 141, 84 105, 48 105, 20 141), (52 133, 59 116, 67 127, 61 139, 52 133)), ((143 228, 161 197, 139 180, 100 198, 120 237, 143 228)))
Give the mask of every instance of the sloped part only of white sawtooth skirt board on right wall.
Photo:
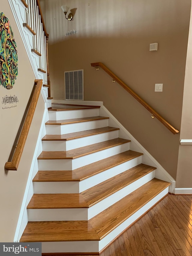
POLYGON ((170 174, 155 160, 155 158, 123 127, 123 125, 106 109, 106 107, 101 106, 100 115, 108 116, 109 126, 114 126, 120 128, 119 136, 124 137, 125 139, 130 139, 130 149, 134 151, 142 152, 142 163, 149 164, 157 168, 155 170, 155 178, 162 179, 164 181, 170 182, 169 192, 173 193, 173 190, 176 186, 176 181, 170 176, 170 174))

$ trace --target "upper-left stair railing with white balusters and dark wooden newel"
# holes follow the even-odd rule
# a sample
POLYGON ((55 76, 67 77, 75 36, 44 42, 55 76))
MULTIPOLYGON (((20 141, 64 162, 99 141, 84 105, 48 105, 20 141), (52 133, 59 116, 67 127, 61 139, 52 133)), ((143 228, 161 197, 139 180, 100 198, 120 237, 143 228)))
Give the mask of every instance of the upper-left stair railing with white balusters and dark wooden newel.
POLYGON ((49 80, 49 61, 48 61, 48 38, 46 32, 43 14, 39 0, 21 0, 26 7, 26 23, 23 26, 27 27, 33 37, 32 52, 39 56, 39 68, 45 74, 46 84, 48 85, 48 97, 51 97, 50 80, 49 80))

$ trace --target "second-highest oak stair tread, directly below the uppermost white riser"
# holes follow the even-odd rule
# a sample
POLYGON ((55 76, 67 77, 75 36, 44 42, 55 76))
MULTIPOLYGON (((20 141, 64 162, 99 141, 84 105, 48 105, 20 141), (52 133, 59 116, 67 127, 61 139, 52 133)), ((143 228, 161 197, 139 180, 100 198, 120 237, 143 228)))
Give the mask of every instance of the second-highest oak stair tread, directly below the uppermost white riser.
MULTIPOLYGON (((50 109, 49 111, 51 111, 51 110, 52 109, 50 109)), ((109 117, 105 117, 105 116, 91 116, 91 117, 81 117, 81 118, 57 120, 57 121, 49 120, 45 124, 46 125, 67 125, 67 124, 89 122, 89 121, 96 121, 96 120, 103 120, 103 119, 109 119, 109 117)))

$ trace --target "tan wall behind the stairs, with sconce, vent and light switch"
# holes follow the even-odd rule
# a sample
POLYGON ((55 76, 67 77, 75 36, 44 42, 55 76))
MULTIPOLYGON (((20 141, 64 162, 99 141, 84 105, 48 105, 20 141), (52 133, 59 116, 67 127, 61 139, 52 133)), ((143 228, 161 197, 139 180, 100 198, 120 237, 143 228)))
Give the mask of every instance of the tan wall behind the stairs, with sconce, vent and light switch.
POLYGON ((104 71, 103 62, 176 129, 180 130, 190 0, 41 0, 49 38, 50 80, 54 99, 64 98, 64 71, 84 69, 85 100, 104 106, 176 179, 179 134, 152 119, 104 71), (61 5, 77 8, 73 21, 61 5), (76 35, 67 31, 76 29, 76 35), (149 52, 150 43, 157 52, 149 52), (163 92, 154 92, 163 83, 163 92))

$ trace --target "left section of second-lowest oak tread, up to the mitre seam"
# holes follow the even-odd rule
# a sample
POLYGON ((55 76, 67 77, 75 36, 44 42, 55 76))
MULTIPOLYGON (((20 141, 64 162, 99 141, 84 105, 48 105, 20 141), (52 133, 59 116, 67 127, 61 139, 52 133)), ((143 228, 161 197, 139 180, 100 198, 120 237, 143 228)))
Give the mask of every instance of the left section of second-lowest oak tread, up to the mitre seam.
POLYGON ((88 208, 80 194, 33 194, 27 209, 88 208))

